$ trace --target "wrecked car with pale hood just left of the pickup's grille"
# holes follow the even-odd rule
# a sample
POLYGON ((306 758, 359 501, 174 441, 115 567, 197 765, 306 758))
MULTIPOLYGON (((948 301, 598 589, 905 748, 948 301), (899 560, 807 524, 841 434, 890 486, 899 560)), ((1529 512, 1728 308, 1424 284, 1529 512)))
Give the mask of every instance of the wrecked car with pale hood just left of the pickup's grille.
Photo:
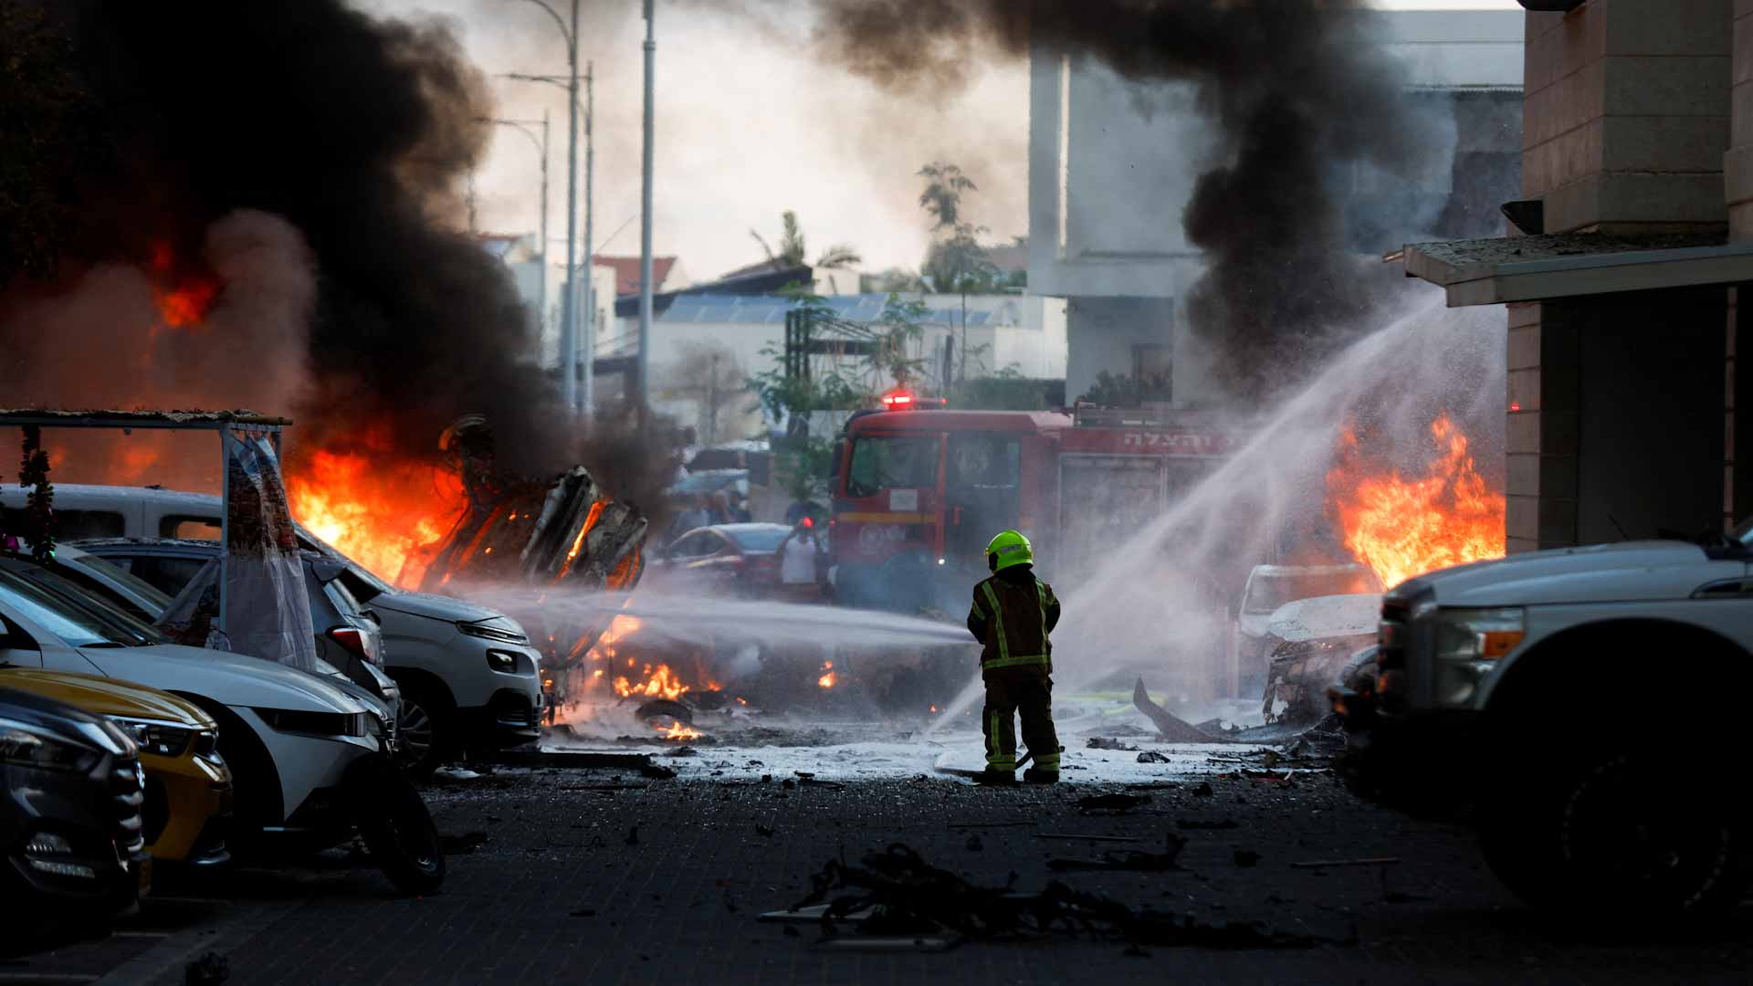
POLYGON ((1315 723, 1327 716, 1327 686, 1339 679, 1352 654, 1374 644, 1380 612, 1376 593, 1315 597, 1278 607, 1262 635, 1266 721, 1315 723))

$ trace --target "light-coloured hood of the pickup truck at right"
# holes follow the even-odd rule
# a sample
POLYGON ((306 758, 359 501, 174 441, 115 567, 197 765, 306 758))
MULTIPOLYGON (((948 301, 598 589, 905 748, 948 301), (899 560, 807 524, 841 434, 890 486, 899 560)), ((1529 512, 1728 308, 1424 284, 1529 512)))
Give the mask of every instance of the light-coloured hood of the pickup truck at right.
POLYGON ((1704 582, 1746 572, 1681 540, 1629 540, 1474 561, 1408 581, 1397 597, 1436 593, 1444 607, 1546 605, 1686 598, 1704 582))

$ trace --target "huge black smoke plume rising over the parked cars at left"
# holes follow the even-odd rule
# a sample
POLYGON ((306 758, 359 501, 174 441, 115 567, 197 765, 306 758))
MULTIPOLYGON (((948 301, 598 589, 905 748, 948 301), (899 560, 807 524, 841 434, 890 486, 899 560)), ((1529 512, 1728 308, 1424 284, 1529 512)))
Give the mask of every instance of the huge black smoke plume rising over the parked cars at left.
MULTIPOLYGON (((528 321, 510 277, 456 232, 452 193, 487 137, 475 119, 493 112, 484 79, 440 23, 375 19, 340 0, 40 7, 72 42, 95 114, 84 123, 105 153, 77 175, 58 279, 14 279, 0 297, 0 349, 18 384, 9 402, 117 404, 144 391, 256 405, 298 419, 295 458, 317 444, 435 454, 445 425, 482 412, 507 467, 543 474, 571 461, 554 428, 556 388, 528 363, 528 321), (280 256, 293 258, 289 272, 309 272, 312 289, 289 293, 298 304, 273 332, 293 339, 296 354, 251 363, 279 354, 228 333, 249 284, 226 282, 209 325, 195 330, 200 339, 181 349, 205 354, 198 377, 156 388, 161 379, 137 377, 133 393, 91 395, 79 377, 19 363, 46 344, 121 361, 135 339, 175 337, 181 330, 145 325, 138 305, 77 295, 123 267, 172 281, 212 277, 235 263, 214 254, 214 230, 226 223, 249 242, 293 240, 280 256), (44 339, 49 325, 53 339, 44 339), (116 353, 121 340, 128 347, 116 353), (237 360, 212 365, 221 349, 237 360), (261 377, 280 374, 302 381, 296 395, 263 407, 284 388, 261 377)), ((144 288, 133 295, 145 297, 144 288)), ((261 332, 259 319, 251 325, 261 332)))

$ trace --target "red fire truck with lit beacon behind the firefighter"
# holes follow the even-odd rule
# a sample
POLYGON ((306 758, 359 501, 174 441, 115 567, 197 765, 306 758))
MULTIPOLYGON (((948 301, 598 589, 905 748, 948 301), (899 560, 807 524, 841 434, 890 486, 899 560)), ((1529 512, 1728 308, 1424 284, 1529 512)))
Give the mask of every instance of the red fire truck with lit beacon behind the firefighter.
POLYGON ((954 609, 1006 528, 1036 544, 1043 577, 1076 577, 1239 440, 1208 412, 943 411, 885 395, 836 446, 834 589, 847 605, 954 609))

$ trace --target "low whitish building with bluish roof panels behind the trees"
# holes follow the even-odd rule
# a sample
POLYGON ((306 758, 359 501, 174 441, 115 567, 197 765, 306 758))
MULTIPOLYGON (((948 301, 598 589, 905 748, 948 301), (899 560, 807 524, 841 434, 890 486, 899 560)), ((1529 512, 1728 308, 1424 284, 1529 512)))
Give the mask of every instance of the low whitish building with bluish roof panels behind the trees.
MULTIPOLYGON (((908 344, 908 356, 924 363, 924 389, 943 388, 941 353, 954 337, 954 351, 969 353, 957 372, 976 377, 1015 370, 1024 377, 1059 379, 1066 374, 1066 304, 1038 295, 910 295, 926 305, 924 332, 908 344)), ((887 295, 836 295, 826 305, 847 321, 876 321, 887 295)), ((773 368, 775 353, 785 346, 785 314, 796 302, 784 295, 680 293, 666 298, 652 321, 652 405, 687 426, 705 444, 735 440, 764 432, 761 409, 743 384, 756 372, 773 368), (715 432, 715 435, 713 435, 715 432), (710 435, 710 437, 708 437, 710 435)), ((619 349, 603 351, 598 365, 619 367, 636 349, 636 314, 617 319, 612 339, 619 349)), ((861 367, 862 358, 815 356, 819 368, 861 367)), ((600 377, 610 379, 610 377, 600 377)), ((862 381, 884 389, 889 381, 862 381)), ((601 389, 617 388, 600 384, 601 389)))

